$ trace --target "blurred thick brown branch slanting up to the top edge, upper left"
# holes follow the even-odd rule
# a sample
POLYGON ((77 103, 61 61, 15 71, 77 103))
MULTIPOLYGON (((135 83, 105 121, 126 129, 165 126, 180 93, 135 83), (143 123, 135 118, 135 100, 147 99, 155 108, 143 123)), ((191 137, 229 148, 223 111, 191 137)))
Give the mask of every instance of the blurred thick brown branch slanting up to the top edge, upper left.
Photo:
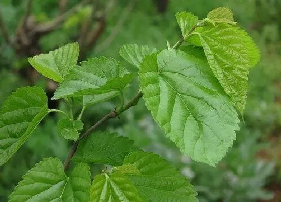
POLYGON ((90 0, 84 0, 80 2, 79 4, 75 5, 72 9, 58 16, 56 19, 52 20, 51 22, 39 24, 38 26, 35 27, 34 31, 31 34, 48 33, 50 31, 53 31, 58 26, 60 26, 69 16, 76 13, 81 6, 87 4, 89 1, 90 0))

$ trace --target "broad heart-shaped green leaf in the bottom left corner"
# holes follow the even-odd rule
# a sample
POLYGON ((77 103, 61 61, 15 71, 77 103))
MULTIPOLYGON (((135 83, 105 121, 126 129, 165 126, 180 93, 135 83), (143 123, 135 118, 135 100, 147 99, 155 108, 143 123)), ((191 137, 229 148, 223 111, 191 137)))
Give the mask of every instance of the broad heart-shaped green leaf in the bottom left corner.
POLYGON ((88 201, 90 176, 86 163, 66 176, 58 158, 44 158, 23 176, 9 201, 88 201))

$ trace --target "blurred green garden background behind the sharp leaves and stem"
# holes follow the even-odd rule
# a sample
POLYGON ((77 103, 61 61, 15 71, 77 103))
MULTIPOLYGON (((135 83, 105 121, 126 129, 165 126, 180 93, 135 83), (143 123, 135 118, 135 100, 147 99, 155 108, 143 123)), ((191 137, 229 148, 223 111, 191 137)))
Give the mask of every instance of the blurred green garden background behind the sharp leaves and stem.
MULTIPOLYGON (((101 129, 129 136, 143 149, 167 159, 191 180, 200 201, 281 201, 280 0, 1 0, 0 105, 17 87, 26 85, 41 86, 52 97, 57 84, 29 66, 27 57, 31 55, 78 41, 80 61, 104 55, 136 72, 118 54, 122 44, 161 49, 168 40, 173 45, 181 37, 175 12, 192 12, 202 19, 220 6, 233 10, 238 25, 258 44, 261 61, 250 70, 245 124, 240 125, 233 148, 217 167, 193 162, 181 154, 153 121, 143 101, 101 129), (34 32, 38 25, 45 30, 34 32)), ((125 99, 137 91, 135 79, 126 89, 125 99)), ((67 110, 63 101, 48 104, 49 108, 67 110)), ((82 118, 84 128, 116 105, 118 99, 89 107, 82 118)), ((79 110, 77 106, 77 114, 79 110)), ((72 142, 60 136, 59 118, 57 114, 46 117, 16 155, 0 167, 0 201, 8 200, 21 176, 42 158, 66 158, 72 142)), ((101 169, 92 166, 92 175, 101 169)))

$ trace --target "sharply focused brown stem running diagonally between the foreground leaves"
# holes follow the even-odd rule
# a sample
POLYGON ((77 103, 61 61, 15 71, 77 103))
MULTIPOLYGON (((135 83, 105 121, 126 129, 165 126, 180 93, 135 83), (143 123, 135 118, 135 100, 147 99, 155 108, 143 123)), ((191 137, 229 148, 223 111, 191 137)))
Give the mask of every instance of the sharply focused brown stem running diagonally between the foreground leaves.
POLYGON ((72 156, 75 154, 78 144, 82 139, 87 138, 94 130, 96 130, 100 125, 102 125, 103 123, 105 123, 106 121, 108 121, 109 119, 112 118, 116 118, 117 116, 119 116, 121 113, 123 113, 124 111, 128 110, 129 108, 131 108, 132 106, 137 105, 139 99, 141 99, 141 97, 143 97, 143 93, 141 91, 138 92, 138 94, 136 94, 136 96, 134 96, 127 104, 125 104, 123 107, 119 107, 117 110, 112 110, 110 111, 108 114, 106 114, 102 119, 100 119, 96 124, 94 124, 90 129, 88 129, 72 146, 71 150, 68 153, 68 157, 66 158, 66 160, 64 161, 63 167, 64 170, 67 169, 69 162, 72 158, 72 156))

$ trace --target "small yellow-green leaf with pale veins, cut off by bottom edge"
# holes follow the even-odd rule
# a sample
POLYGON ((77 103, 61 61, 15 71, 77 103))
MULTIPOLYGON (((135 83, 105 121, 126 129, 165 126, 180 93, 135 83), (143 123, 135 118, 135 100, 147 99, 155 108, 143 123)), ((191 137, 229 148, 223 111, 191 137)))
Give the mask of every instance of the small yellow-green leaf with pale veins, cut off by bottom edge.
POLYGON ((122 173, 97 175, 91 186, 90 201, 143 201, 132 182, 122 173))

